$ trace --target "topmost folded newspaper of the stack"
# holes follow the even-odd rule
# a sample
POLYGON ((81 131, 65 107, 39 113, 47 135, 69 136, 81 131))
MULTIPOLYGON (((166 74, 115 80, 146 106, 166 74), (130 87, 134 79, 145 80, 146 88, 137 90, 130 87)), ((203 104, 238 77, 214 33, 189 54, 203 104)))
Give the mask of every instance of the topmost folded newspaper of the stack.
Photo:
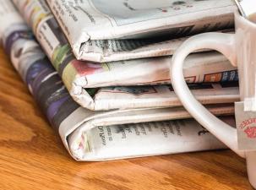
POLYGON ((179 41, 168 38, 228 29, 237 10, 232 0, 47 2, 74 55, 94 62, 170 55, 179 41))

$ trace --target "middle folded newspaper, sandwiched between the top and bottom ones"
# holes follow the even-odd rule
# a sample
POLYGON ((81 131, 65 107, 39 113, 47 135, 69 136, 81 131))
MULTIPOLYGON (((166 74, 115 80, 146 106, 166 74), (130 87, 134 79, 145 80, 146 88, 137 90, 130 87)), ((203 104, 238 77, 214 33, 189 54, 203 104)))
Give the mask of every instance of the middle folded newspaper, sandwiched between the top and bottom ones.
MULTIPOLYGON (((14 3, 24 15, 27 23, 34 28, 35 36, 57 72, 62 76, 70 95, 81 106, 98 111, 117 108, 180 106, 168 85, 117 87, 120 85, 170 84, 170 57, 107 63, 78 61, 44 0, 14 0, 14 3), (88 89, 92 87, 93 89, 88 89)), ((236 69, 221 54, 206 52, 190 56, 184 73, 188 83, 231 82, 238 80, 236 69)), ((220 86, 217 89, 221 90, 220 86)), ((204 91, 205 94, 199 90, 198 95, 201 97, 198 98, 205 103, 221 103, 213 99, 222 100, 222 103, 233 101, 234 98, 238 99, 237 87, 225 88, 221 92, 219 90, 208 89, 204 91), (208 95, 207 97, 211 100, 206 100, 204 95, 208 95)))

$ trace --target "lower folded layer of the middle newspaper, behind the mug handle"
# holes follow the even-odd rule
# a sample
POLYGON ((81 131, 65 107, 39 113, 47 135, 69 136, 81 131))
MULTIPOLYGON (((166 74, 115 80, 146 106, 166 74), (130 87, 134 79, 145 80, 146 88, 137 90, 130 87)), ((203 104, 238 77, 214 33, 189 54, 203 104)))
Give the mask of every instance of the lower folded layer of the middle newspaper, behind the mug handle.
MULTIPOLYGON (((237 83, 188 84, 188 87, 204 105, 240 100, 237 83)), ((90 95, 92 99, 88 100, 88 103, 93 106, 92 110, 182 106, 171 85, 103 87, 90 95)), ((85 101, 77 101, 86 106, 85 101)))

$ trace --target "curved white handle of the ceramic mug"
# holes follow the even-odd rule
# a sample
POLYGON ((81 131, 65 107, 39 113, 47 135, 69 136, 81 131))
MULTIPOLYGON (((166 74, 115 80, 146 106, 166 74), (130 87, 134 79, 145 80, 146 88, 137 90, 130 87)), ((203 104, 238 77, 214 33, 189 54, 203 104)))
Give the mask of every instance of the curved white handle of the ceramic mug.
POLYGON ((193 97, 185 82, 182 72, 182 65, 185 58, 188 57, 189 53, 205 48, 221 52, 232 65, 237 66, 235 35, 216 32, 194 35, 185 41, 172 57, 170 65, 172 87, 179 100, 181 100, 182 105, 204 128, 219 138, 230 149, 236 152, 237 155, 244 158, 244 151, 238 150, 237 148, 236 128, 232 128, 226 122, 222 122, 202 106, 193 97))

